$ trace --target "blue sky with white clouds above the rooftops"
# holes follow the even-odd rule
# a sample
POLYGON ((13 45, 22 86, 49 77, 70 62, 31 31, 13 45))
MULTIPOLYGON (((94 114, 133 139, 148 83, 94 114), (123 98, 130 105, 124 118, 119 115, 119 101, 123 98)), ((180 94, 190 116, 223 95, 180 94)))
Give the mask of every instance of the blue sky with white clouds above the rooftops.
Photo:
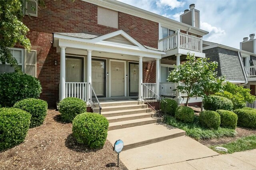
POLYGON ((239 49, 249 34, 256 34, 256 0, 119 0, 126 4, 180 21, 180 14, 195 4, 204 40, 239 49))

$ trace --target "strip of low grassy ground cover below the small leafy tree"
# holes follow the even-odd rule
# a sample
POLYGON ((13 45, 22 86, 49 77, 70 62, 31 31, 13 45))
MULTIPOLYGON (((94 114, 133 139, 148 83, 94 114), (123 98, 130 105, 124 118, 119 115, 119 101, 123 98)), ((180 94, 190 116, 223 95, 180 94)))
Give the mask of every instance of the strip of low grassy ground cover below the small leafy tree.
POLYGON ((196 140, 234 137, 236 135, 236 131, 234 129, 219 128, 218 130, 211 130, 201 127, 198 123, 198 116, 195 116, 193 123, 183 123, 181 121, 177 121, 171 116, 166 116, 165 122, 168 125, 185 130, 187 136, 190 136, 196 140))

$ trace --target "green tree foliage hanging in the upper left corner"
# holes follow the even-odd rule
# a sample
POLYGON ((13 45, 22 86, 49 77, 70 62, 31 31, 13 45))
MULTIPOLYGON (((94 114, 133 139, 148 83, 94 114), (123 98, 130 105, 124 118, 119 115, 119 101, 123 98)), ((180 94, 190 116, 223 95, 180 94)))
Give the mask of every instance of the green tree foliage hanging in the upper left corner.
POLYGON ((30 40, 26 38, 29 29, 22 23, 23 8, 22 0, 0 0, 0 62, 3 64, 17 65, 9 50, 16 43, 30 51, 30 40))

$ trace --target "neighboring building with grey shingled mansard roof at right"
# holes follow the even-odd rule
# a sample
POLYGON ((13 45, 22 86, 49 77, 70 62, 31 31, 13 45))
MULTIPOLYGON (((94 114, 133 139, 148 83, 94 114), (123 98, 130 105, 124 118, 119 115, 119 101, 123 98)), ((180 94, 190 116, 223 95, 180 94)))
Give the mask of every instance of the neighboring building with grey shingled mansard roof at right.
POLYGON ((240 49, 226 45, 203 41, 203 52, 210 61, 218 62, 218 76, 225 75, 226 80, 250 88, 256 95, 256 39, 250 34, 240 42, 240 49))

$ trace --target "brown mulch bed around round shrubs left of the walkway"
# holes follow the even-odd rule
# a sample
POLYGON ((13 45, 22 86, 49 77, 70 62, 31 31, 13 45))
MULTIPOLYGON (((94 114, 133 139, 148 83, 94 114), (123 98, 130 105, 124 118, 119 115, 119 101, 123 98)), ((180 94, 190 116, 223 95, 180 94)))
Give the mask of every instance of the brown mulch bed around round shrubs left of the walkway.
POLYGON ((90 150, 78 144, 72 136, 72 124, 62 123, 60 114, 48 110, 44 124, 31 128, 25 141, 14 148, 0 152, 1 170, 77 169, 126 170, 107 140, 100 150, 90 150))

